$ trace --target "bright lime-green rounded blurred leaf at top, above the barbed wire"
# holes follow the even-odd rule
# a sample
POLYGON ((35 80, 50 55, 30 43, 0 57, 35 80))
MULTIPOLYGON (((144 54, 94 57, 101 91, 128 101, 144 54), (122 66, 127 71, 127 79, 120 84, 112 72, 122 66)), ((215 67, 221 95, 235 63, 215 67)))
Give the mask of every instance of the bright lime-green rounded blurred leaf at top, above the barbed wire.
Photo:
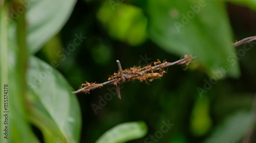
POLYGON ((100 7, 97 18, 108 29, 109 35, 132 46, 146 39, 147 18, 138 7, 108 1, 100 7))

